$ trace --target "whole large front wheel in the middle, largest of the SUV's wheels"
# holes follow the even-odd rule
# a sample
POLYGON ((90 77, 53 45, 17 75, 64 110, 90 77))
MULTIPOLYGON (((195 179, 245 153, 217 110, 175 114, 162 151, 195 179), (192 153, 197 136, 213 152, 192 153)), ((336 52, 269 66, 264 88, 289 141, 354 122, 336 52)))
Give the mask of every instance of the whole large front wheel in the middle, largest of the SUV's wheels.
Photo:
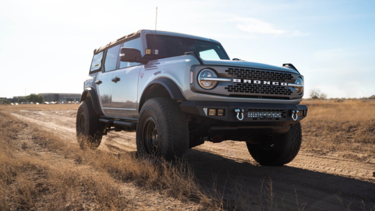
POLYGON ((142 158, 183 158, 189 148, 188 121, 173 99, 144 103, 137 125, 137 150, 142 158))

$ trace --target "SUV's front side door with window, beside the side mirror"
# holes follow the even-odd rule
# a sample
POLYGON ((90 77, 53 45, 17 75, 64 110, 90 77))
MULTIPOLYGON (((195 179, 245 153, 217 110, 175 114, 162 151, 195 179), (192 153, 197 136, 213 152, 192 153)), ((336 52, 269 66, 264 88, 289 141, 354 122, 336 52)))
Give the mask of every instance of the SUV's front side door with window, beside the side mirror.
MULTIPOLYGON (((141 51, 140 38, 124 42, 122 47, 141 51)), ((118 54, 118 53, 117 53, 118 54)), ((142 65, 137 62, 120 62, 119 69, 114 71, 112 84, 112 112, 116 117, 138 119, 138 76, 142 65)))

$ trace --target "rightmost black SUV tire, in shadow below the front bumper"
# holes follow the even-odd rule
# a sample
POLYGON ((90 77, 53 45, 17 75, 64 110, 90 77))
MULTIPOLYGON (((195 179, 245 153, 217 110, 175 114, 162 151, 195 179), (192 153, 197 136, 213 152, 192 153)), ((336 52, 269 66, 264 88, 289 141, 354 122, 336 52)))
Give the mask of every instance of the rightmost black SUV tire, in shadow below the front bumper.
POLYGON ((272 142, 251 144, 247 142, 247 149, 251 156, 262 165, 282 166, 291 162, 298 154, 302 142, 301 123, 290 126, 288 133, 274 135, 272 142))

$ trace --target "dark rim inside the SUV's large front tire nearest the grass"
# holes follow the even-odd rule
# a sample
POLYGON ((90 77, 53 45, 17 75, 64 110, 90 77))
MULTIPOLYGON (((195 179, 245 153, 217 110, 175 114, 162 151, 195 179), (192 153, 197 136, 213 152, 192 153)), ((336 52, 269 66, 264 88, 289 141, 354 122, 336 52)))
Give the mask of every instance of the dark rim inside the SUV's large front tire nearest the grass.
POLYGON ((155 119, 152 117, 147 119, 146 124, 144 124, 143 146, 144 151, 146 151, 147 154, 153 155, 153 157, 158 155, 160 146, 158 125, 156 124, 155 119))

